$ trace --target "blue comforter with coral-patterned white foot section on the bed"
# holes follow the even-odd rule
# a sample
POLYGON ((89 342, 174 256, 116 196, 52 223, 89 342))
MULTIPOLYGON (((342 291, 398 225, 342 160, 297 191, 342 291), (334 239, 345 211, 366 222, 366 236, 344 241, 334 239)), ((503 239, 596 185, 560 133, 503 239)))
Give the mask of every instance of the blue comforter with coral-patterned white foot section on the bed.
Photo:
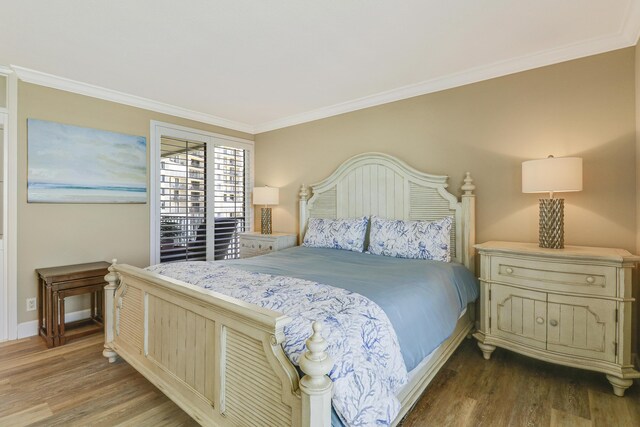
POLYGON ((407 371, 450 336, 478 294, 471 272, 459 264, 336 249, 296 247, 149 270, 289 315, 283 348, 295 365, 311 322, 324 319, 328 351, 336 357, 329 373, 334 426, 343 420, 389 425, 407 371))

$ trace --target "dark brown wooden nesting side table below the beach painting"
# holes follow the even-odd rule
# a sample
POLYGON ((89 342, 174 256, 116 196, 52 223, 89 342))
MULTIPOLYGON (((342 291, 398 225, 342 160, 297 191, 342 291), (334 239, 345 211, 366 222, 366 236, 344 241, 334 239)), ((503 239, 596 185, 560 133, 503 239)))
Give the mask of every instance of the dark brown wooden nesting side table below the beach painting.
POLYGON ((73 338, 100 332, 103 329, 104 276, 108 262, 38 268, 39 333, 47 347, 64 345, 73 338), (91 293, 91 315, 87 319, 64 322, 65 298, 91 293))

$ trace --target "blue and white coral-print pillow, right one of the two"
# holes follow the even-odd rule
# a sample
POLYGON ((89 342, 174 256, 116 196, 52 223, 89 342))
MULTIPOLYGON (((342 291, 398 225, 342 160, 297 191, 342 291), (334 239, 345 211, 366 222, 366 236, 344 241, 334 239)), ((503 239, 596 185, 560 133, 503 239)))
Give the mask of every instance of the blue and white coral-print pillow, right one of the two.
POLYGON ((453 217, 437 221, 403 221, 371 217, 369 252, 396 258, 451 261, 453 217))

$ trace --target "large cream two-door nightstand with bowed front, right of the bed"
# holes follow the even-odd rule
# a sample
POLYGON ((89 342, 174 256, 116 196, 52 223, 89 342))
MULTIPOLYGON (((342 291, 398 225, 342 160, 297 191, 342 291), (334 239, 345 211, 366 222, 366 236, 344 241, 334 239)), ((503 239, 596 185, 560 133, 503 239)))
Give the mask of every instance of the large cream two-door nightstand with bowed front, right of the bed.
POLYGON ((603 372, 617 396, 640 378, 631 362, 631 270, 623 249, 487 242, 480 253, 485 359, 496 347, 603 372))

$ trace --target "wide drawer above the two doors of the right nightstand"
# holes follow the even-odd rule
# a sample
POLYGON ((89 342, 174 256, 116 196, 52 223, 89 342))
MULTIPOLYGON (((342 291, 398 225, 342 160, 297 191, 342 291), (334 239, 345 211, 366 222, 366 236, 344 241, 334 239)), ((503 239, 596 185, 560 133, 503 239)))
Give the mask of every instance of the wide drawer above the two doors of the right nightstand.
POLYGON ((616 296, 616 268, 601 265, 494 256, 491 280, 544 291, 616 296))

